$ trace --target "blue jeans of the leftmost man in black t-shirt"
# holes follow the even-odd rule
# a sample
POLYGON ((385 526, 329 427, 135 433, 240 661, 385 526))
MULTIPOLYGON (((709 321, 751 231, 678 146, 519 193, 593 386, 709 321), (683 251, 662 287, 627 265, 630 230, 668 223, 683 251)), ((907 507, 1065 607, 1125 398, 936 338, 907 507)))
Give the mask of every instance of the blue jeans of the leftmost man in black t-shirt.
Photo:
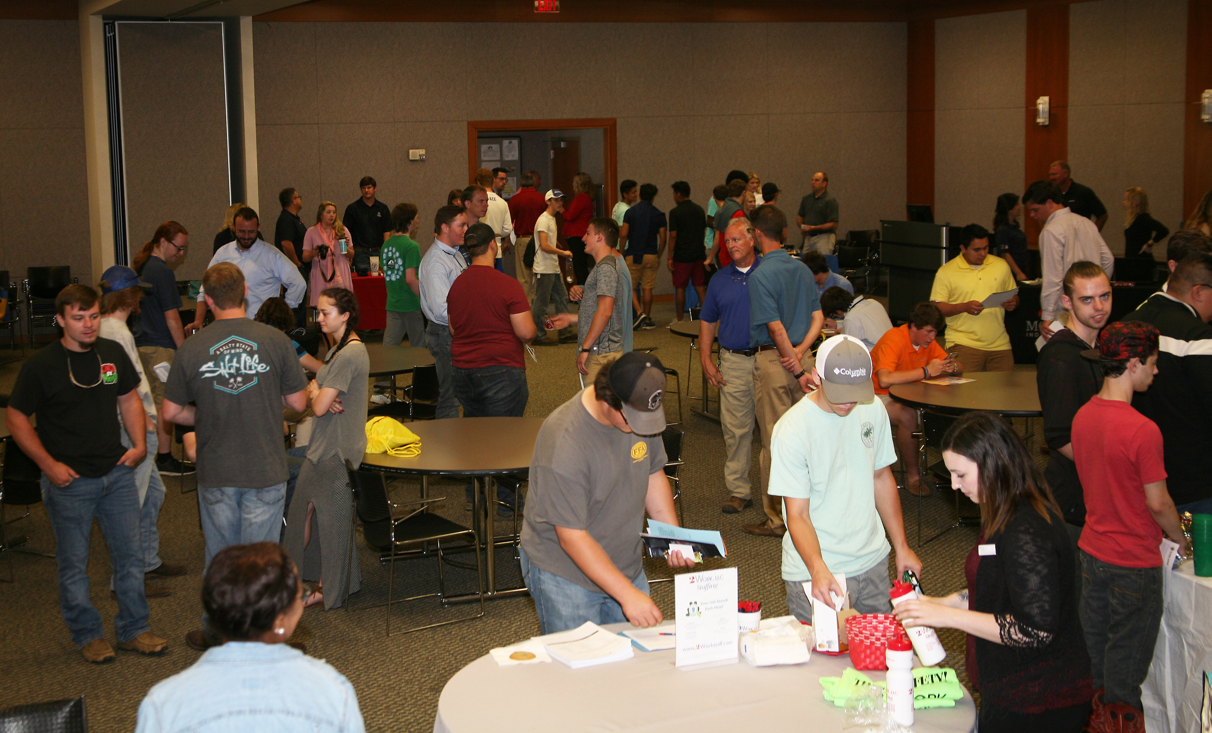
POLYGON ((101 613, 88 597, 88 540, 96 517, 109 546, 114 569, 118 617, 114 631, 119 642, 131 641, 148 625, 148 600, 143 595, 143 557, 139 550, 139 494, 135 470, 116 465, 97 479, 74 479, 59 487, 42 474, 42 504, 55 532, 55 557, 59 571, 59 609, 82 647, 104 638, 101 613))

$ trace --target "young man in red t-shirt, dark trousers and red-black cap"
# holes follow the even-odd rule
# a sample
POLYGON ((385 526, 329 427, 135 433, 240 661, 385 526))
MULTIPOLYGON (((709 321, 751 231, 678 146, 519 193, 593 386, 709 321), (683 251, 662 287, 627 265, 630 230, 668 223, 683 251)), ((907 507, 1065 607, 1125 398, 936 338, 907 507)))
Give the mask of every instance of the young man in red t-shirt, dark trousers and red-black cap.
POLYGON ((1157 373, 1156 326, 1120 321, 1103 330, 1103 388, 1073 418, 1073 458, 1086 499, 1081 625, 1094 680, 1094 731, 1144 731, 1140 683, 1161 625, 1162 531, 1187 546, 1166 491, 1161 430, 1132 407, 1157 373))

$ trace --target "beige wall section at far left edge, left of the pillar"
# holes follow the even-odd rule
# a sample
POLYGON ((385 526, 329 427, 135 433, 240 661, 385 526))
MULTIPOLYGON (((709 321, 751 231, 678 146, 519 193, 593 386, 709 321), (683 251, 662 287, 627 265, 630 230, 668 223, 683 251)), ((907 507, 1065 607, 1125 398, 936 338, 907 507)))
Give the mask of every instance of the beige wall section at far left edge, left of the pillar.
POLYGON ((0 270, 67 264, 92 282, 79 25, 0 21, 0 270))

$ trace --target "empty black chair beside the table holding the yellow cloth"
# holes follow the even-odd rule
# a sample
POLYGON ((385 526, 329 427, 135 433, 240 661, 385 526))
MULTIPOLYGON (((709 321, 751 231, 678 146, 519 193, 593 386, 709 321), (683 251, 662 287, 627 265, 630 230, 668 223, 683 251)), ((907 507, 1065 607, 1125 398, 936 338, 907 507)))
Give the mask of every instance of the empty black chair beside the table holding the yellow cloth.
MULTIPOLYGON (((383 474, 356 470, 351 462, 345 462, 345 464, 349 470, 349 486, 354 492, 358 519, 362 523, 362 537, 366 539, 366 544, 385 554, 388 560, 387 602, 365 607, 387 607, 387 635, 391 636, 391 603, 436 597, 444 606, 446 605, 446 578, 442 569, 447 560, 442 552, 442 540, 447 543, 453 539, 470 542, 475 552, 475 577, 480 596, 480 612, 436 624, 413 626, 405 631, 398 631, 398 634, 411 634, 422 629, 433 629, 435 626, 482 618, 484 568, 480 559, 480 542, 475 534, 475 529, 469 529, 463 525, 429 511, 435 504, 444 502, 445 497, 395 503, 388 496, 387 480, 383 477, 383 474), (410 548, 416 548, 417 545, 428 548, 429 543, 433 543, 438 549, 438 592, 408 596, 406 599, 393 599, 396 557, 408 559, 406 554, 410 548)), ((351 532, 349 546, 350 552, 354 552, 356 551, 356 531, 351 529, 351 532)), ((424 551, 421 556, 429 556, 429 552, 424 551)), ((347 596, 348 591, 349 589, 347 588, 347 596)), ((345 601, 345 608, 349 608, 348 600, 345 601)))

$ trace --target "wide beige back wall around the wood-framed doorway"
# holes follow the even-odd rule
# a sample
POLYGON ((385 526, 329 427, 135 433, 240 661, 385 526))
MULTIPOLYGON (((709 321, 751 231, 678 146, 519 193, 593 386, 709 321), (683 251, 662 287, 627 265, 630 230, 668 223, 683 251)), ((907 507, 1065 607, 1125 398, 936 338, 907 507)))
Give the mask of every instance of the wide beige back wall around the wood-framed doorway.
POLYGON ((265 218, 284 187, 303 193, 307 222, 320 199, 344 206, 372 174, 381 199, 413 201, 429 221, 467 183, 468 120, 570 118, 617 118, 619 179, 658 184, 663 210, 671 182, 687 181, 703 204, 743 168, 783 189, 794 230, 799 199, 825 170, 842 233, 904 216, 903 23, 255 23, 253 33, 265 218), (536 50, 531 73, 491 51, 501 38, 536 50), (747 63, 721 85, 725 47, 745 48, 747 63), (551 81, 539 58, 570 71, 551 81), (704 102, 713 87, 725 93, 704 102), (410 148, 428 160, 408 161, 410 148))

